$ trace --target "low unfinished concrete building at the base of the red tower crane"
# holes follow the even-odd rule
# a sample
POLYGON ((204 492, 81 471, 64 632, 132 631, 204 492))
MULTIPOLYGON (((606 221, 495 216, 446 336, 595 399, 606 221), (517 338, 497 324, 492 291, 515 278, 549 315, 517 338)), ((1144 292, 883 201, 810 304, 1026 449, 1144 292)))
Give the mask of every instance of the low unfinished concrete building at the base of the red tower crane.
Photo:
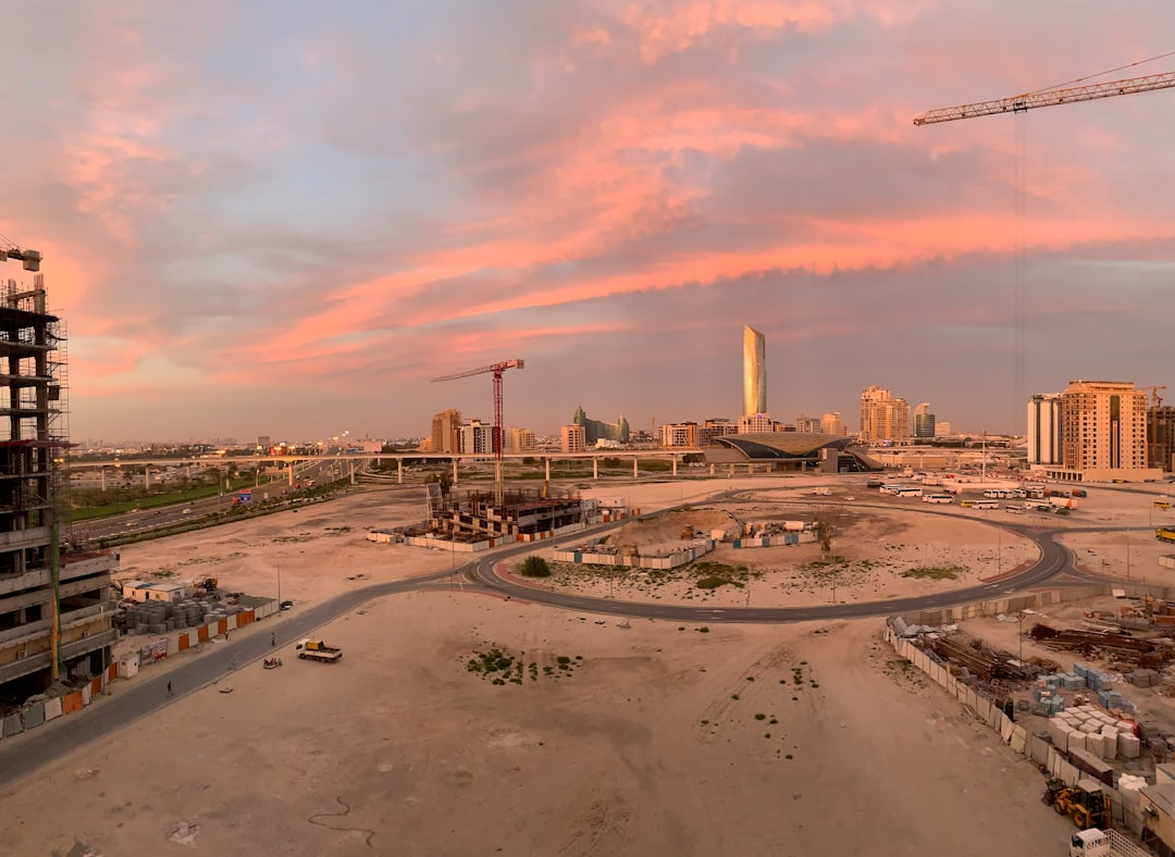
POLYGON ((595 510, 577 491, 550 497, 548 490, 504 491, 502 505, 495 506, 492 493, 464 492, 446 497, 439 486, 429 485, 430 534, 455 541, 479 541, 496 537, 540 537, 563 527, 585 524, 595 510))

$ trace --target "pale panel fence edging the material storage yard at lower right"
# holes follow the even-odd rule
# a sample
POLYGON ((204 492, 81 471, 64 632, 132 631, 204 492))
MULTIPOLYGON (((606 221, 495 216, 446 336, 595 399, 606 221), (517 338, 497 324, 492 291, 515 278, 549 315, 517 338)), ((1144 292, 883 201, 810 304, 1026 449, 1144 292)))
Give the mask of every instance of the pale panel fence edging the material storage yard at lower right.
MULTIPOLYGON (((978 721, 987 723, 1000 736, 1000 740, 1012 748, 1013 753, 1023 756, 1034 765, 1045 765, 1052 776, 1065 781, 1067 785, 1076 785, 1079 780, 1089 776, 1088 772, 1072 764, 1066 755, 1053 747, 1050 742, 1028 733, 1022 726, 1008 718, 998 704, 978 693, 973 687, 958 681, 947 666, 940 663, 932 654, 922 652, 911 640, 900 637, 892 622, 886 622, 885 639, 899 657, 909 661, 946 693, 954 696, 978 721)), ((1041 790, 1043 787, 1045 783, 1041 781, 1041 790)), ((1143 829, 1143 815, 1139 792, 1134 791, 1123 798, 1123 792, 1109 784, 1103 784, 1103 790, 1110 799, 1114 824, 1119 829, 1129 830, 1135 836, 1140 836, 1143 829)), ((1149 857, 1148 852, 1141 849, 1137 853, 1140 857, 1149 857)))

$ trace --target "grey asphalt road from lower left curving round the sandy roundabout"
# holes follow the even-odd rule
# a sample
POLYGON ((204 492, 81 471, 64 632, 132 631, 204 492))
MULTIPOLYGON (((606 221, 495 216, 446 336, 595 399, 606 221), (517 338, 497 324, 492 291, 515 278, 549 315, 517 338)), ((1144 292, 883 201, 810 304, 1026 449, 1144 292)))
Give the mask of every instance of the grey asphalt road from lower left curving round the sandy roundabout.
MULTIPOLYGON (((723 499, 723 497, 711 498, 707 501, 719 499, 723 499)), ((944 514, 933 510, 918 510, 918 512, 924 514, 944 514)), ((354 589, 323 603, 308 607, 304 610, 295 609, 293 612, 278 613, 276 616, 280 616, 280 619, 263 620, 262 627, 271 628, 276 635, 277 646, 287 646, 371 599, 431 588, 436 583, 451 579, 455 573, 464 574, 466 572, 475 581, 481 583, 479 588, 484 588, 485 591, 585 613, 687 622, 770 623, 803 622, 820 619, 858 619, 916 609, 934 609, 966 603, 968 601, 993 599, 1026 586, 1042 583, 1066 571, 1069 559, 1066 548, 1053 541, 1052 535, 1055 531, 1038 533, 1020 525, 995 525, 1002 526, 1005 529, 1019 532, 1035 541, 1040 547, 1040 560, 1022 573, 1008 576, 1005 580, 954 589, 936 595, 813 607, 687 607, 684 605, 593 599, 525 586, 499 578, 494 571, 494 567, 498 562, 531 552, 536 547, 551 547, 559 542, 577 541, 586 535, 611 529, 625 522, 616 521, 586 531, 579 531, 573 535, 555 540, 553 542, 524 542, 513 545, 495 551, 490 556, 465 564, 457 568, 456 572, 438 572, 425 576, 376 583, 354 589)), ((209 683, 229 677, 237 669, 246 667, 261 669, 260 663, 256 662, 274 650, 270 647, 269 636, 264 633, 242 633, 239 637, 234 636, 224 643, 213 643, 212 646, 212 650, 207 654, 187 660, 174 669, 161 673, 157 676, 147 677, 149 676, 149 670, 147 670, 141 674, 143 677, 139 681, 126 686, 115 684, 113 691, 95 700, 83 716, 60 717, 52 723, 38 727, 26 735, 0 741, 0 787, 29 775, 39 767, 60 758, 87 741, 107 735, 170 704, 174 700, 167 697, 168 682, 172 682, 175 690, 174 699, 181 699, 209 683)))

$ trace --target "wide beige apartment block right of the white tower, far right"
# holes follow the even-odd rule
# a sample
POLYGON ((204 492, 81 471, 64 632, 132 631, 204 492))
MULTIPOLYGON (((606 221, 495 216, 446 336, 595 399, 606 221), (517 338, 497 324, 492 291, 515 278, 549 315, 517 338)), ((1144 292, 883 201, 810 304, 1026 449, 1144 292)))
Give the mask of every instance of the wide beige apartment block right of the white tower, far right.
POLYGON ((1060 396, 1061 466, 1042 467, 1066 481, 1140 481, 1162 471, 1147 461, 1147 394, 1127 382, 1074 380, 1060 396))

